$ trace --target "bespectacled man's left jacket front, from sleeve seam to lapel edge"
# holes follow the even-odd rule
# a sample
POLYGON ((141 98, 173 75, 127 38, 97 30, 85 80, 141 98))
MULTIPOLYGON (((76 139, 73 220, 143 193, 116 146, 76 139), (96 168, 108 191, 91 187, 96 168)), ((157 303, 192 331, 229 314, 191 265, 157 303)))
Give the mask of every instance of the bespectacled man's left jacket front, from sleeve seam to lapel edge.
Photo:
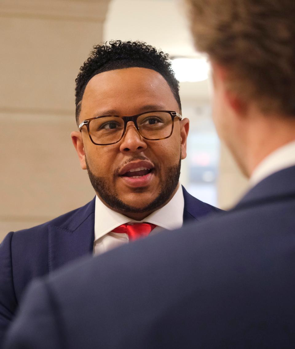
POLYGON ((94 206, 95 199, 49 222, 12 233, 10 248, 17 298, 34 277, 92 252, 94 206))

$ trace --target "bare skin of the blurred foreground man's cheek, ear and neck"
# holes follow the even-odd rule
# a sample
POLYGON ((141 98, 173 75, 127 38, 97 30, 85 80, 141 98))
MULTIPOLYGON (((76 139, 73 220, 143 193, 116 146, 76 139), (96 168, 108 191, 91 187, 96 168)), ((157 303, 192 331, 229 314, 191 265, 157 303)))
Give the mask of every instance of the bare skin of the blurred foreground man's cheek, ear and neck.
POLYGON ((231 151, 242 173, 251 174, 269 154, 294 141, 295 118, 279 110, 263 112, 255 99, 245 99, 229 88, 226 66, 212 61, 213 119, 217 133, 231 151))

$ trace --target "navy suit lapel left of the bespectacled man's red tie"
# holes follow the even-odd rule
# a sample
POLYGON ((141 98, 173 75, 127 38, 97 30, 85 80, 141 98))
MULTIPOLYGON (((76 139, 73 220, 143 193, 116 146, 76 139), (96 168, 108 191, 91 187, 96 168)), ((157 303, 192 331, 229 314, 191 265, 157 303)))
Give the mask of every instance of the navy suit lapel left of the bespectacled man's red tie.
POLYGON ((48 227, 49 272, 72 260, 92 254, 95 198, 77 209, 61 225, 48 227))

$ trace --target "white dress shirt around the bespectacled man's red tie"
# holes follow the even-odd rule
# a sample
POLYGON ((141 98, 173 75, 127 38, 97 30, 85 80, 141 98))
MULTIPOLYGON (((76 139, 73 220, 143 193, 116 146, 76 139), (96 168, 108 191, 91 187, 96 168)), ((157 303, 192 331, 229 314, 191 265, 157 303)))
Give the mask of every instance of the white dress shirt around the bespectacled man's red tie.
POLYGON ((150 235, 156 234, 163 229, 173 230, 180 228, 183 224, 184 197, 182 187, 179 184, 173 198, 162 208, 154 211, 142 221, 135 221, 108 208, 96 196, 94 214, 94 244, 93 253, 95 255, 112 250, 129 242, 129 237, 124 233, 114 233, 112 229, 121 224, 134 222, 148 222, 156 224, 150 235))

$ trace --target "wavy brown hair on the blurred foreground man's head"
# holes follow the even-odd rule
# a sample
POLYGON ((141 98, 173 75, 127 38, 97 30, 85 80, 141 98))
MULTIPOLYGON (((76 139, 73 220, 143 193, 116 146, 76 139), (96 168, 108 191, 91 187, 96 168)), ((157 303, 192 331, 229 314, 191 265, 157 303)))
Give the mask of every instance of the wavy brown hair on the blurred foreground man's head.
POLYGON ((187 0, 196 48, 228 67, 228 88, 295 117, 295 1, 187 0))

